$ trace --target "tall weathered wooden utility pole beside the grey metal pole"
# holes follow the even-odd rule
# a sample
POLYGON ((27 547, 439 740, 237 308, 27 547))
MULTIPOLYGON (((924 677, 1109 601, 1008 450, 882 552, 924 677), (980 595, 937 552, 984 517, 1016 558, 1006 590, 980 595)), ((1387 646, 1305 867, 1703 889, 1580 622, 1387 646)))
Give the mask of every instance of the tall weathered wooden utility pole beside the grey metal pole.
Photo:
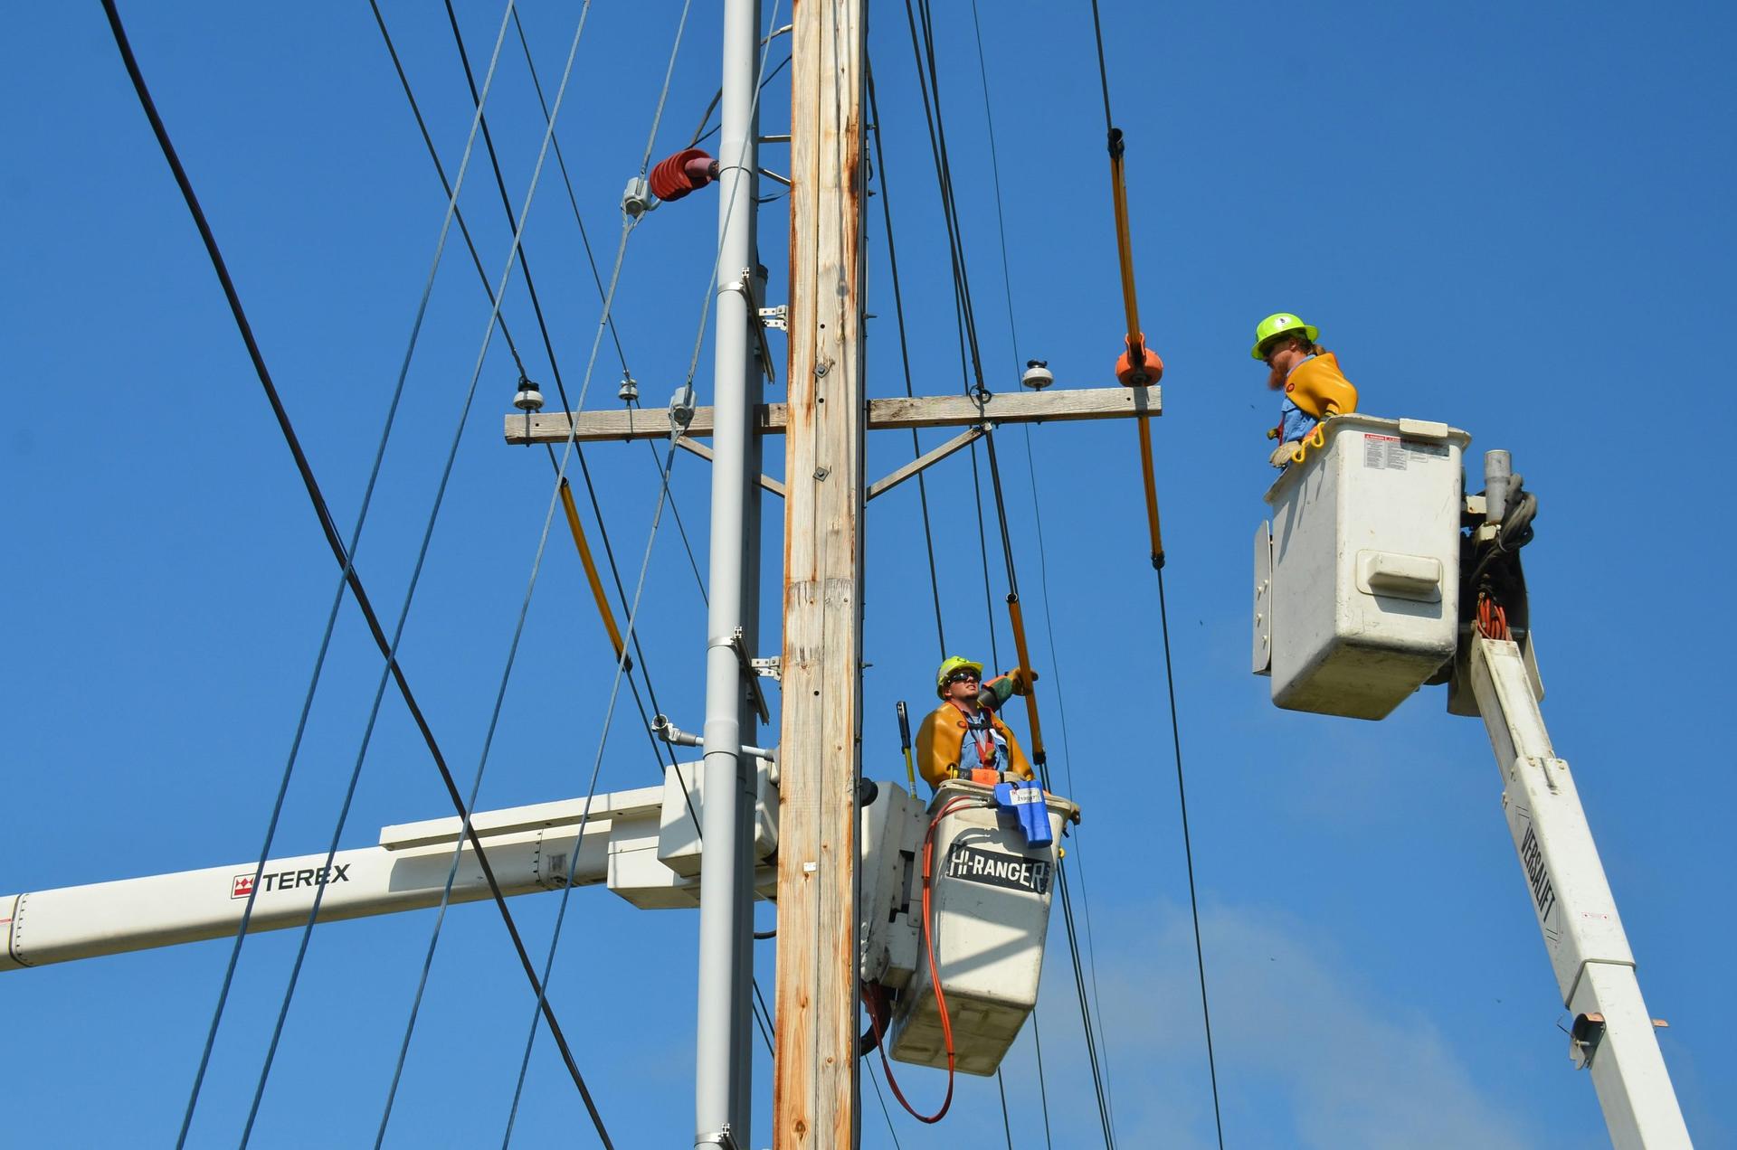
POLYGON ((863 5, 796 0, 773 1145, 856 1131, 863 5))

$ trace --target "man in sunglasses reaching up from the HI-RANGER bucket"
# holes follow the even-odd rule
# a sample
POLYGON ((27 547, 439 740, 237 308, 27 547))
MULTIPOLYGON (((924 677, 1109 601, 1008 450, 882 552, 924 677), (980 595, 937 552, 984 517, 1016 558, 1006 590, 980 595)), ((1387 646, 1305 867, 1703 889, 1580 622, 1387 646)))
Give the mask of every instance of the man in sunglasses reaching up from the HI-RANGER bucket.
POLYGON ((928 783, 938 789, 948 778, 973 778, 978 770, 994 771, 978 782, 1001 782, 1002 775, 1030 780, 1032 764, 1020 740, 995 717, 995 707, 1025 695, 1035 681, 1035 671, 1020 669, 983 683, 983 664, 959 655, 945 660, 935 672, 941 705, 917 730, 917 770, 928 783))

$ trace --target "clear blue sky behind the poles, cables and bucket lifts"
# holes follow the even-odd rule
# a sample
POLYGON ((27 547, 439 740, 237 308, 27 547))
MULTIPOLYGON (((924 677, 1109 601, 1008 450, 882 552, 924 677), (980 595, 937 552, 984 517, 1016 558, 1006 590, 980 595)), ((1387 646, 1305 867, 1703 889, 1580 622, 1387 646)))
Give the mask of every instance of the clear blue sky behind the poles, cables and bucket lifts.
MULTIPOLYGON (((481 64, 500 9, 460 7, 481 64)), ((1011 389, 1030 356, 1049 360, 1060 386, 1113 386, 1120 299, 1089 9, 981 5, 1004 280, 969 9, 936 7, 990 386, 1011 389)), ((644 148, 677 12, 599 3, 580 42, 559 139, 603 252, 613 250, 615 202, 644 148)), ((386 14, 453 167, 469 104, 445 19, 410 3, 386 14)), ((347 530, 445 208, 367 5, 129 3, 123 16, 347 530)), ((549 85, 575 16, 571 5, 525 10, 549 85)), ((1673 1023, 1661 1042, 1690 1131, 1697 1145, 1737 1145, 1714 1013, 1734 936, 1709 900, 1737 863, 1725 829, 1737 787, 1723 724, 1734 636, 1720 528, 1732 450, 1721 375, 1737 307, 1732 24, 1730 9, 1711 3, 1105 5, 1143 318, 1167 361, 1155 438, 1169 622, 1228 1145, 1603 1138, 1591 1082, 1570 1068, 1556 1028, 1567 1020, 1480 724, 1447 716, 1438 688, 1379 724, 1278 712, 1266 681, 1247 674, 1249 540, 1271 478, 1263 431, 1273 422, 1247 344, 1275 309, 1320 325, 1364 410, 1464 427, 1473 452, 1509 448, 1539 495, 1527 570, 1544 716, 1574 764, 1648 1006, 1673 1023)), ((712 7, 697 5, 653 158, 698 123, 717 85, 716 33, 712 7)), ((518 198, 540 120, 509 49, 490 118, 518 198)), ((902 7, 875 5, 870 56, 888 148, 877 191, 895 215, 915 386, 947 394, 961 386, 959 349, 902 7)), ((12 400, 0 440, 10 542, 0 559, 0 891, 247 860, 334 565, 99 5, 14 7, 0 76, 14 109, 0 170, 0 370, 12 400)), ((768 89, 766 132, 783 130, 787 92, 768 89)), ((782 148, 764 162, 782 170, 782 148)), ((499 274, 507 231, 483 177, 472 170, 464 207, 499 274)), ((545 172, 525 243, 577 391, 598 297, 556 181, 545 172)), ((872 207, 870 393, 895 394, 903 379, 872 207)), ((686 370, 714 228, 705 193, 658 210, 629 245, 617 321, 653 405, 686 370)), ((766 205, 775 301, 783 235, 783 202, 766 205)), ((405 594, 485 334, 488 302, 466 264, 450 245, 360 547, 382 613, 405 594)), ((535 351, 518 278, 505 314, 535 351)), ((533 375, 547 380, 535 360, 533 375)), ((709 351, 700 361, 703 401, 709 351)), ((618 368, 606 346, 591 406, 615 403, 618 368)), ((497 335, 403 646, 462 780, 476 768, 549 499, 538 453, 500 445, 512 384, 497 335)), ((1037 427, 1032 467, 1023 431, 1001 443, 1049 688, 1046 735, 1086 813, 1075 853, 1120 1141, 1205 1147, 1211 1101, 1134 434, 1120 424, 1037 427)), ((902 434, 877 436, 870 471, 907 453, 902 434)), ((776 448, 768 457, 782 467, 776 448)), ((655 464, 637 446, 598 448, 589 464, 631 580, 655 464)), ((997 618, 992 636, 985 618, 969 485, 955 457, 929 486, 947 643, 988 657, 994 641, 1006 665, 1006 624, 997 618)), ((705 466, 679 459, 672 490, 703 565, 705 466)), ((766 511, 776 572, 778 507, 766 511)), ((655 542, 639 629, 660 702, 697 730, 705 615, 670 528, 655 542)), ((893 702, 926 698, 936 657, 914 486, 874 504, 867 540, 863 764, 898 778, 893 702)), ((776 603, 773 580, 768 618, 776 603)), ((775 638, 763 646, 771 653, 775 638)), ((610 671, 578 563, 556 547, 481 806, 584 792, 610 671)), ((278 853, 313 851, 330 836, 377 676, 346 608, 278 853)), ((655 780, 636 723, 617 710, 603 789, 655 780)), ((443 813, 427 754, 387 700, 344 844, 443 813)), ((533 952, 554 910, 552 898, 514 903, 533 952)), ((759 915, 775 917, 771 907, 759 915)), ((316 933, 255 1145, 372 1136, 429 926, 415 914, 316 933)), ((690 1134, 695 933, 693 914, 637 912, 601 889, 573 895, 552 999, 617 1145, 690 1134)), ((1091 1145, 1072 973, 1060 933, 1054 942, 1039 1008, 1049 1117, 1056 1145, 1091 1145)), ((238 1138, 294 943, 283 933, 243 950, 196 1145, 238 1138)), ((226 954, 226 943, 203 943, 7 976, 9 1140, 170 1141, 226 954)), ((757 957, 769 988, 768 943, 757 957)), ((495 912, 455 910, 391 1143, 499 1141, 528 1023, 495 912)), ((1006 1070, 1014 1145, 1042 1145, 1028 1035, 1006 1070)), ((756 1075, 764 1145, 764 1053, 756 1075)), ((915 1068, 903 1082, 919 1107, 943 1089, 915 1068)), ((995 1087, 976 1079, 962 1081, 941 1127, 895 1112, 893 1129, 903 1147, 1004 1145, 995 1087)), ((542 1039, 516 1138, 585 1145, 587 1131, 542 1039)), ((863 1145, 893 1145, 872 1093, 863 1145)))

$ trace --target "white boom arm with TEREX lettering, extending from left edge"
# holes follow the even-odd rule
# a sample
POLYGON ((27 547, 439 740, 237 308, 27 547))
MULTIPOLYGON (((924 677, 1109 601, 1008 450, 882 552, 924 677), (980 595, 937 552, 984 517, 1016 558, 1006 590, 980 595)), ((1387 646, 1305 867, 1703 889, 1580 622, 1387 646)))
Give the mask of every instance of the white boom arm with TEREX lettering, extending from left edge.
MULTIPOLYGON (((776 804, 769 766, 763 761, 759 771, 756 862, 776 844, 766 803, 771 797, 771 806, 776 804)), ((584 799, 565 799, 472 816, 502 895, 554 891, 571 877, 573 886, 608 882, 643 909, 698 905, 697 764, 665 768, 662 787, 599 794, 591 799, 589 813, 585 806, 584 799)), ((337 851, 330 865, 323 853, 273 858, 259 879, 248 933, 301 926, 321 888, 321 922, 434 907, 459 830, 457 818, 436 818, 382 827, 379 846, 337 851)), ((0 971, 229 938, 241 926, 255 867, 245 862, 0 895, 0 971)), ((761 863, 756 888, 764 893, 773 884, 773 869, 761 863)), ((476 851, 466 843, 452 902, 490 896, 476 851)))

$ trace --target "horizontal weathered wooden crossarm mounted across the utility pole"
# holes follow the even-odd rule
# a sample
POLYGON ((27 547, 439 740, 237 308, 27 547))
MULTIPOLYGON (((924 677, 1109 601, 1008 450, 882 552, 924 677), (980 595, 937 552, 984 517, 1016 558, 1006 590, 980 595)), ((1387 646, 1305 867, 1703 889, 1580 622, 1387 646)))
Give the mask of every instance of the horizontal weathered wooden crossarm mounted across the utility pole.
MULTIPOLYGON (((992 424, 1070 422, 1079 419, 1134 419, 1162 415, 1164 406, 1157 387, 1077 387, 1072 391, 1007 391, 987 396, 898 396, 868 400, 868 431, 900 431, 907 427, 974 427, 992 424)), ((754 431, 783 434, 789 408, 783 403, 763 403, 754 408, 754 431)), ((608 443, 615 440, 662 440, 669 434, 669 419, 662 412, 540 412, 505 417, 509 445, 566 443, 568 433, 578 443, 608 443), (573 431, 577 424, 577 431, 573 431)), ((712 434, 712 408, 697 406, 684 436, 712 434)), ((686 445, 683 445, 686 446, 686 445)))

